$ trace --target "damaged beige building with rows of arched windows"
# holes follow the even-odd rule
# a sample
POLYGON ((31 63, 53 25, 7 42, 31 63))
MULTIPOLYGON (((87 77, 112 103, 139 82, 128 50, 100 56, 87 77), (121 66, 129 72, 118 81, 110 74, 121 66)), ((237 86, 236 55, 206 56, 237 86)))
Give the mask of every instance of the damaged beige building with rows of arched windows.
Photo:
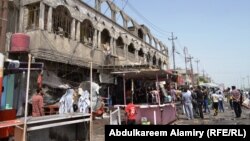
POLYGON ((167 46, 146 25, 111 0, 95 0, 92 5, 86 1, 9 0, 2 50, 9 58, 24 61, 30 53, 33 61, 44 63, 45 71, 72 85, 90 79, 90 62, 93 81, 108 85, 121 81, 114 71, 169 68, 167 46), (29 36, 28 48, 12 46, 17 33, 29 36))

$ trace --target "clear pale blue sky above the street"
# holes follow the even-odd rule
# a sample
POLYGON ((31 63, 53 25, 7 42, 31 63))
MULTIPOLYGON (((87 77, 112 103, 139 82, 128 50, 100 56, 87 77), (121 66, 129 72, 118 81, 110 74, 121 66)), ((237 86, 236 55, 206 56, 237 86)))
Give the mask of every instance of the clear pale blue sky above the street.
MULTIPOLYGON (((127 0, 114 0, 124 7, 127 0)), ((214 82, 248 86, 250 75, 250 0, 128 0, 125 12, 149 27, 171 51, 175 41, 176 67, 185 68, 183 48, 199 59, 214 82), (136 9, 139 14, 133 10, 136 9), (141 15, 143 16, 141 16, 141 15), (244 81, 243 81, 244 80, 244 81)), ((172 53, 170 54, 172 68, 172 53)), ((197 65, 193 63, 195 72, 197 65)))

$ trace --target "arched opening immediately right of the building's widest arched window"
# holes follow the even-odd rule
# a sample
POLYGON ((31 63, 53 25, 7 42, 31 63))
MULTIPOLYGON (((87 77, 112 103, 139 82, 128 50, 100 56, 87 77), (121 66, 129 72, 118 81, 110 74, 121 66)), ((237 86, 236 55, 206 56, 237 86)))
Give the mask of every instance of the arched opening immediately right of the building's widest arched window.
POLYGON ((80 41, 81 43, 92 43, 94 35, 94 28, 90 20, 84 20, 80 27, 80 41))

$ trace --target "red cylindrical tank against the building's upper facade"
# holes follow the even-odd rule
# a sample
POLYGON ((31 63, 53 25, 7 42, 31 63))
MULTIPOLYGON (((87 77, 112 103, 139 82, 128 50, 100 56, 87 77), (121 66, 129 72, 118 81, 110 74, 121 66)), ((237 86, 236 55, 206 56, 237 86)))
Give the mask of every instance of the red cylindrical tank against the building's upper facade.
POLYGON ((29 50, 30 37, 24 33, 15 33, 11 36, 12 52, 27 52, 29 50))

